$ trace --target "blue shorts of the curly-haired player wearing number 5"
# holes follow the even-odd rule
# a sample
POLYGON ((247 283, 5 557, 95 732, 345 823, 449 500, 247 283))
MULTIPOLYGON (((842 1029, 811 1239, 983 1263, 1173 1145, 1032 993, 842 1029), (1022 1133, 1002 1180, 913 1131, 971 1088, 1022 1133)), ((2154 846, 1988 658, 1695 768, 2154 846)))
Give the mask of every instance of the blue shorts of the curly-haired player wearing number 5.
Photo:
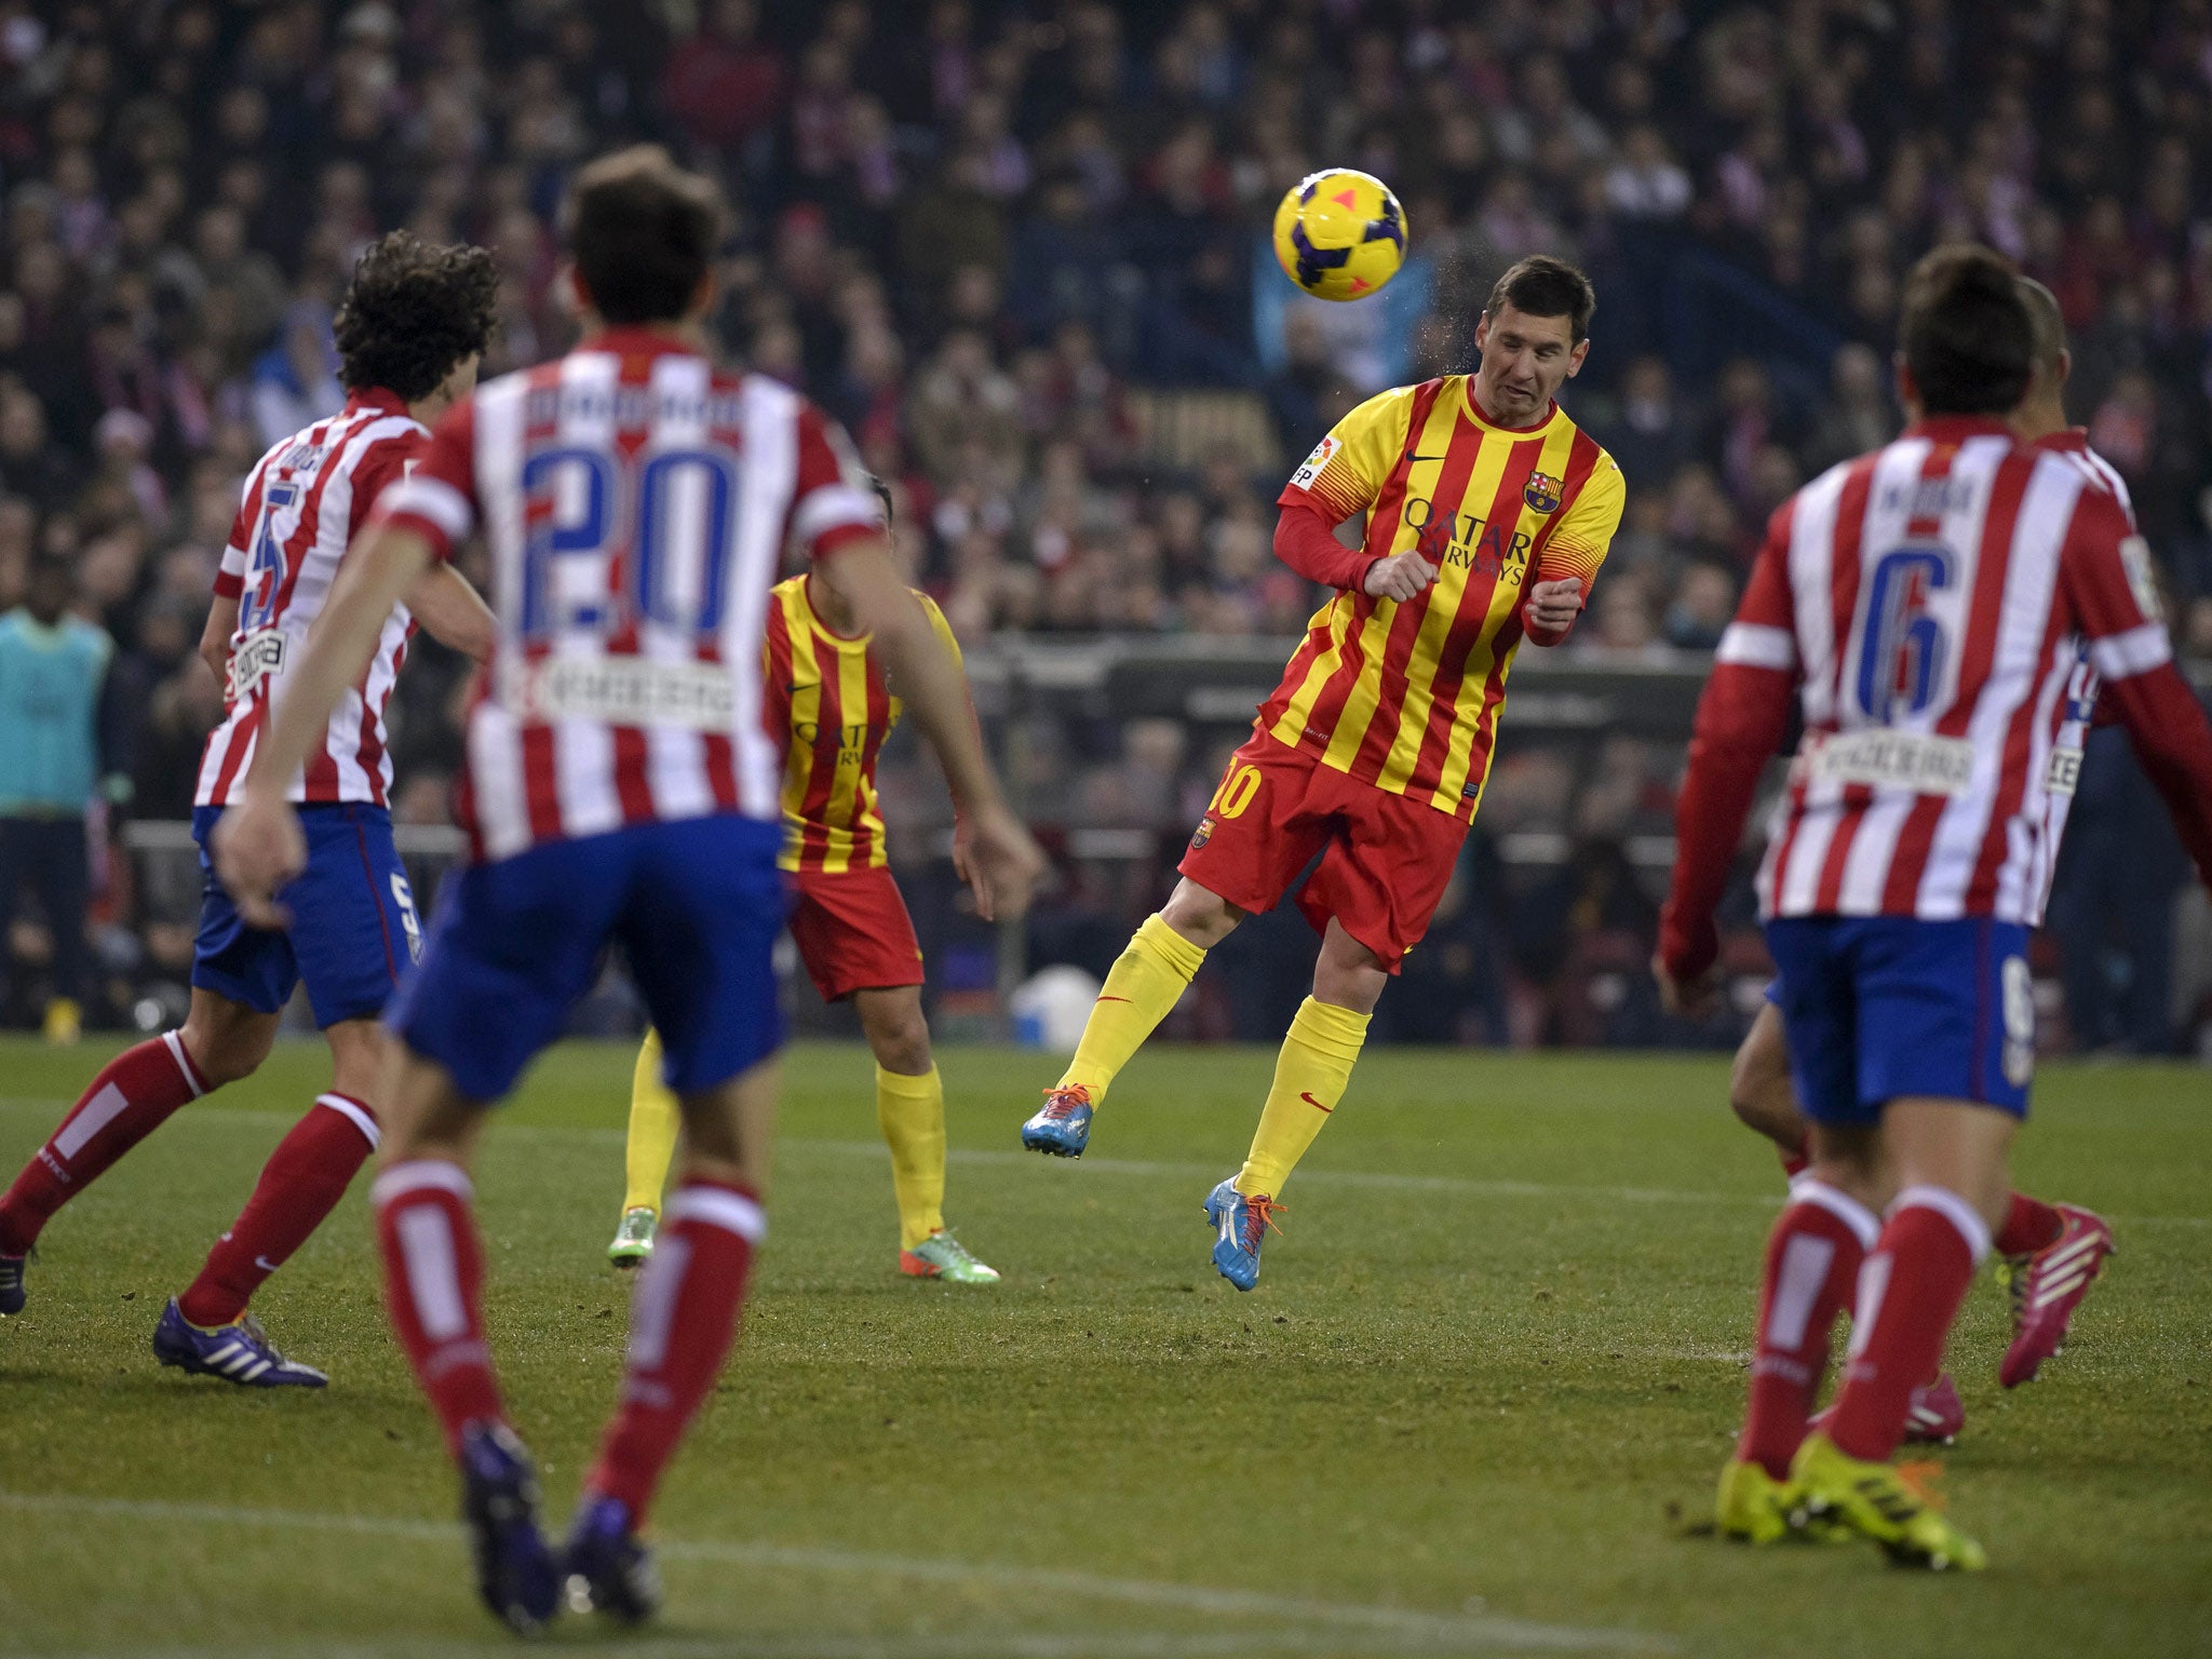
POLYGON ((422 922, 392 847, 392 814, 354 801, 299 810, 307 867, 276 894, 292 911, 281 933, 248 927, 215 878, 208 836, 221 816, 221 807, 192 807, 201 869, 192 984, 276 1013, 305 980, 319 1026, 383 1013, 422 956, 422 922))

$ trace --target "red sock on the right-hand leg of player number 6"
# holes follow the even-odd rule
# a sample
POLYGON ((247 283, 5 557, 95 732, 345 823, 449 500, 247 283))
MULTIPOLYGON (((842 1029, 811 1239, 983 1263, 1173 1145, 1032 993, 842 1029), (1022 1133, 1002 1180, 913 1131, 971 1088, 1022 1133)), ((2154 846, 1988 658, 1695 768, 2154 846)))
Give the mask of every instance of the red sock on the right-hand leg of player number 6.
POLYGON ((1827 1438, 1851 1458, 1887 1462, 1905 1438, 1916 1387, 1936 1376, 1951 1321, 1989 1254, 1989 1225, 1958 1192, 1909 1186, 1889 1206, 1858 1279, 1851 1363, 1827 1438))

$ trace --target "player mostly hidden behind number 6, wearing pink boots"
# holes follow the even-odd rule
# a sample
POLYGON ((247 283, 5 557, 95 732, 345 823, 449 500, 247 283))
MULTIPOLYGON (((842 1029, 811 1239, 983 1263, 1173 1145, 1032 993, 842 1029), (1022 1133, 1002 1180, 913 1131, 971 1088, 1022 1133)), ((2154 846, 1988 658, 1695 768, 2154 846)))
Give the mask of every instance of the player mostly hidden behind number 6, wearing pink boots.
MULTIPOLYGON (((2059 303, 2033 276, 2020 279, 2020 299, 2035 327, 2035 376, 2028 383, 2026 400, 2013 409, 2006 425, 2037 449, 2073 456, 2079 467, 2088 469, 2097 489, 2106 489, 2119 500, 2132 524, 2135 509, 2126 480, 2112 462, 2088 447, 2088 434, 2081 427, 2066 425, 2066 380, 2073 374, 2073 352, 2066 347, 2066 319, 2059 314, 2059 303)), ((2073 761, 2077 765, 2081 752, 2079 712, 2097 697, 2095 672, 2088 664, 2075 670, 2064 697, 2068 723, 2059 728, 2055 752, 2077 757, 2073 761)), ((2064 832, 2070 803, 2070 787, 2053 787, 2048 807, 2053 841, 2064 832)), ((2055 863, 2053 858, 2044 867, 2046 889, 2055 863)), ((1790 1044, 1783 1035, 1781 1004, 1772 984, 1743 1046, 1736 1048, 1736 1064, 1728 1079, 1728 1104, 1747 1128, 1774 1141, 1785 1175, 1796 1179, 1805 1170, 1809 1126, 1790 1082, 1790 1044)), ((2066 1343, 2075 1310, 2097 1281, 2104 1259, 2112 1254, 2112 1230, 2104 1217, 2077 1203, 2044 1203, 2026 1192, 2013 1192, 2006 1199, 2004 1225, 1991 1234, 1991 1250, 1997 1254, 2000 1272, 2013 1294, 2013 1340, 1997 1365, 1997 1383, 2017 1389, 2022 1383, 2033 1383, 2044 1360, 2053 1358, 2066 1343)), ((1913 1389, 1905 1416, 1907 1440, 1949 1444, 1964 1425, 1966 1407, 1949 1374, 1913 1389)), ((1750 1455, 1745 1451, 1745 1458, 1750 1455)))

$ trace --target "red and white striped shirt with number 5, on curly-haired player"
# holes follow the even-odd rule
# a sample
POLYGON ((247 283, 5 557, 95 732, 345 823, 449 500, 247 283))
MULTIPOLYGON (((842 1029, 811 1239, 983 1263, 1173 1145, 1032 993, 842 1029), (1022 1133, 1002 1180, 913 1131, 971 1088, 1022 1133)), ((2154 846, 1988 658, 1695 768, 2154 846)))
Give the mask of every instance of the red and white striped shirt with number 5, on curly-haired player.
MULTIPOLYGON (((239 626, 230 635, 223 723, 208 734, 199 761, 197 805, 230 803, 285 668, 323 611, 338 560, 383 489, 427 445, 429 431, 398 396, 369 389, 354 394, 330 420, 285 438, 246 478, 246 500, 215 577, 215 595, 239 602, 239 626)), ((392 790, 385 706, 411 633, 414 617, 398 606, 385 619, 369 672, 338 699, 323 745, 292 776, 292 801, 385 805, 392 790)))

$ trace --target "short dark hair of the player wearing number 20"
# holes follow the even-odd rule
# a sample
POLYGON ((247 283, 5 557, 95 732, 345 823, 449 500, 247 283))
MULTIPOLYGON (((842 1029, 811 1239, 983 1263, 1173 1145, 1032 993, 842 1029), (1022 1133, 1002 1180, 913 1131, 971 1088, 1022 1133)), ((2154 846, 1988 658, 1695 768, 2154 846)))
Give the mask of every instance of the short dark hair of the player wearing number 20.
POLYGON ((721 241, 721 197, 659 144, 602 155, 575 175, 568 248, 608 323, 672 323, 690 310, 721 241))

